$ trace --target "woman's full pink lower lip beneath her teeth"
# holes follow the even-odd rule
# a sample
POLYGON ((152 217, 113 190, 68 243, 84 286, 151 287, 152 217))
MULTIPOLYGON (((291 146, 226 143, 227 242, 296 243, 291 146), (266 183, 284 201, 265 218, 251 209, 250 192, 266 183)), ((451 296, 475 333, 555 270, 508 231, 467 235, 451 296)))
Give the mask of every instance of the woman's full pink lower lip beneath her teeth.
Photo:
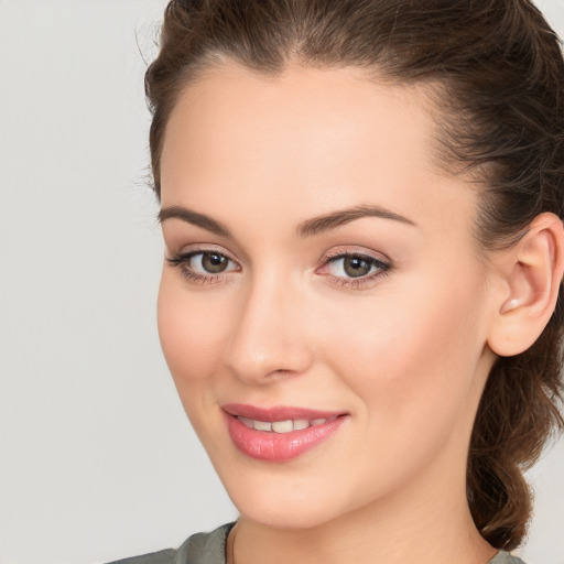
POLYGON ((227 429, 235 446, 251 458, 270 462, 285 462, 315 448, 347 421, 348 416, 339 416, 321 425, 310 426, 290 433, 274 433, 249 429, 236 416, 227 416, 227 429))

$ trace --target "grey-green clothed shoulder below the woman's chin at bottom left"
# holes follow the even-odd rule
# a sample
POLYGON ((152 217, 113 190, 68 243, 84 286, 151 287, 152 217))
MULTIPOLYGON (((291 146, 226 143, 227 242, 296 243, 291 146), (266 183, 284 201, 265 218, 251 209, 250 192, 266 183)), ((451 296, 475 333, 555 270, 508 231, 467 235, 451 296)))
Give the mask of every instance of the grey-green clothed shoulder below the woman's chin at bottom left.
POLYGON ((193 534, 178 549, 151 552, 108 564, 225 564, 225 543, 234 524, 227 523, 212 532, 193 534))

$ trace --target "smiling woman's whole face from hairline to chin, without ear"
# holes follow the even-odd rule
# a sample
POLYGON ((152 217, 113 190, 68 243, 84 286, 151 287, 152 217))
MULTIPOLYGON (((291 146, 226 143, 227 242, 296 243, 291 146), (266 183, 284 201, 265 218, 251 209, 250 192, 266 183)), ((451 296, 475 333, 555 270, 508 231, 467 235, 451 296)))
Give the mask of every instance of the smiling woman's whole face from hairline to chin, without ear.
POLYGON ((351 68, 227 65, 172 113, 161 341, 252 521, 465 500, 495 278, 434 134, 422 91, 351 68))

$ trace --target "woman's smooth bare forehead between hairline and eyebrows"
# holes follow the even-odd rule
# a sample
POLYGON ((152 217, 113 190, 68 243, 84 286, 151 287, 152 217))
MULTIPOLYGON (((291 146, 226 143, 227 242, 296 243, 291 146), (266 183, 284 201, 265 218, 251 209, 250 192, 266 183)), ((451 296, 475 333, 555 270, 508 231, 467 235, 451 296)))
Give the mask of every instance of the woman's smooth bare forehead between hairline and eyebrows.
POLYGON ((272 78, 218 67, 170 117, 163 205, 225 204, 249 218, 288 208, 296 219, 366 203, 408 217, 470 205, 468 186, 435 163, 435 118, 423 88, 357 68, 293 65, 272 78))

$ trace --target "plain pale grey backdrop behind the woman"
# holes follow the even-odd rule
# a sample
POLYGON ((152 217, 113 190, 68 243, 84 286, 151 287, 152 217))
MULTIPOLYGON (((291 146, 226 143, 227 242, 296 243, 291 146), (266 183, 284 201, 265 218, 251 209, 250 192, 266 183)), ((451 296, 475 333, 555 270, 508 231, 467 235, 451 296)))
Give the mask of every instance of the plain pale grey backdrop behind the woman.
MULTIPOLYGON (((236 517, 162 358, 144 62, 164 0, 0 0, 2 564, 93 564, 236 517)), ((539 6, 564 34, 564 0, 539 6)), ((522 555, 564 563, 564 444, 522 555)))

